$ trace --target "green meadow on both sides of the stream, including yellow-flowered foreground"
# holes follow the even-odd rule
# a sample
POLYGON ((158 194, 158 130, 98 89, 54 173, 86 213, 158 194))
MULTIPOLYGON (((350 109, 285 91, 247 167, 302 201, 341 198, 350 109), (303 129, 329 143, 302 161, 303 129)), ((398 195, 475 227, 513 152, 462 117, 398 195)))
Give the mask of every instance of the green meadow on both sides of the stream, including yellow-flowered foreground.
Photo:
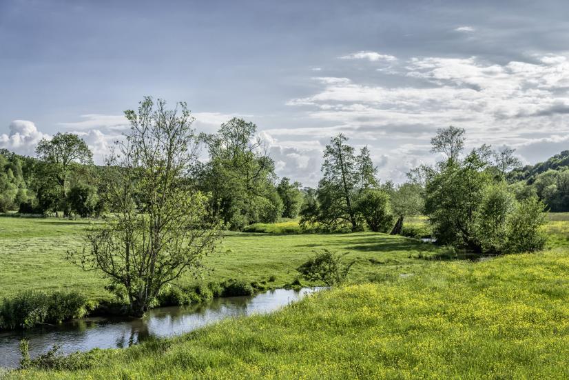
MULTIPOLYGON (((182 337, 90 352, 77 371, 6 372, 14 379, 566 379, 567 215, 550 215, 548 249, 449 260, 415 239, 352 234, 228 234, 203 279, 278 288, 313 250, 349 252, 346 285, 268 315, 227 319, 182 337), (404 274, 404 275, 401 275, 404 274)), ((420 219, 413 223, 423 223, 420 219)), ((290 223, 290 222, 287 222, 290 223)), ((111 297, 104 281, 63 260, 83 221, 0 218, 0 291, 72 287, 111 297), (39 286, 38 284, 41 284, 39 286)))

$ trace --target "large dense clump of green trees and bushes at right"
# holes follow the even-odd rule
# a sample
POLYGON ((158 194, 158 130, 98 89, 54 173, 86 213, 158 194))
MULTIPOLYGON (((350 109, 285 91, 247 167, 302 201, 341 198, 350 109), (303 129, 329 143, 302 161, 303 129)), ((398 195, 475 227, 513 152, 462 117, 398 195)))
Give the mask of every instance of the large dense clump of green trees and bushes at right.
MULTIPOLYGON (((439 151, 435 144, 440 140, 433 139, 433 151, 439 151)), ((542 248, 543 203, 523 195, 518 203, 512 186, 495 175, 492 157, 490 147, 483 145, 464 159, 450 154, 423 171, 425 212, 437 243, 494 254, 542 248)), ((542 188, 549 188, 548 183, 550 178, 544 178, 542 188)))

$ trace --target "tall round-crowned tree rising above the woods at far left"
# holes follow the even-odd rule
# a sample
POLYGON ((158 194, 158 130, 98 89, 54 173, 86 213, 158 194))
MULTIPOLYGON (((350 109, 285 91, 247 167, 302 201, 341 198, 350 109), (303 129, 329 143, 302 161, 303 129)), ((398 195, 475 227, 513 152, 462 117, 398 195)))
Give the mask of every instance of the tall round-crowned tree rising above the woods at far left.
POLYGON ((60 187, 63 203, 63 214, 68 216, 68 177, 75 163, 92 164, 93 154, 87 143, 76 134, 57 133, 52 139, 41 139, 36 154, 39 159, 48 163, 50 174, 54 176, 60 187))

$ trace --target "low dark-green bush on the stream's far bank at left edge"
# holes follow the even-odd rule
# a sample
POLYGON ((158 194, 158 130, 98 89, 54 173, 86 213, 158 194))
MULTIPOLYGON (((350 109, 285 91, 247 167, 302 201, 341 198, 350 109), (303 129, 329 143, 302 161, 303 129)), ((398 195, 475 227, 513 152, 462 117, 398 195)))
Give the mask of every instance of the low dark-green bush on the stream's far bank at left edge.
POLYGON ((0 305, 0 328, 32 328, 41 323, 61 323, 87 314, 90 303, 77 292, 46 294, 26 290, 0 305))

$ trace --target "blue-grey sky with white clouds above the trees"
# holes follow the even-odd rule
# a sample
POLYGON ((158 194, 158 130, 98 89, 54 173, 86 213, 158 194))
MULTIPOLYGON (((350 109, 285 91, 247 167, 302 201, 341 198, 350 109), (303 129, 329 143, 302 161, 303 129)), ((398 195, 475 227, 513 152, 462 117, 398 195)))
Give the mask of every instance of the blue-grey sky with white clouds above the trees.
POLYGON ((437 128, 524 163, 569 149, 567 1, 0 0, 0 148, 74 132, 96 162, 145 95, 198 132, 242 117, 276 172, 315 186, 342 132, 383 181, 437 128))

